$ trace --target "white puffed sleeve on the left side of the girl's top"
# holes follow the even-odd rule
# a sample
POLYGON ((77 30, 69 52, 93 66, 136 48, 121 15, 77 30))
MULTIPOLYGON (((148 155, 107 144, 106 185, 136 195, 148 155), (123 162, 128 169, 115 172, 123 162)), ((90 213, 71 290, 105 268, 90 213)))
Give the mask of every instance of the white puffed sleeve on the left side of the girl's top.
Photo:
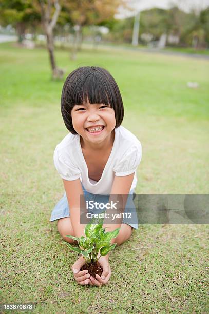
POLYGON ((62 153, 58 151, 57 147, 54 150, 53 159, 54 166, 60 174, 61 178, 68 181, 76 180, 79 178, 81 171, 77 167, 75 167, 69 159, 66 160, 62 153))

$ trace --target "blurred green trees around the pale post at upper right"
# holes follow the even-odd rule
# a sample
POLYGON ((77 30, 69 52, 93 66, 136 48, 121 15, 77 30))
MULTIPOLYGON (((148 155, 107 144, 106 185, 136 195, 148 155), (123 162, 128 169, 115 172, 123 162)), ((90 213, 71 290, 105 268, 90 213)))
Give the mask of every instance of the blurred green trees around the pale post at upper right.
MULTIPOLYGON (((112 20, 110 25, 106 25, 110 32, 103 37, 108 41, 131 43, 133 25, 134 17, 112 20)), ((140 13, 140 43, 146 43, 142 34, 151 34, 153 40, 159 40, 163 33, 179 36, 179 46, 191 46, 194 37, 197 37, 199 47, 208 46, 209 8, 198 15, 186 13, 175 6, 167 10, 152 8, 140 13)))

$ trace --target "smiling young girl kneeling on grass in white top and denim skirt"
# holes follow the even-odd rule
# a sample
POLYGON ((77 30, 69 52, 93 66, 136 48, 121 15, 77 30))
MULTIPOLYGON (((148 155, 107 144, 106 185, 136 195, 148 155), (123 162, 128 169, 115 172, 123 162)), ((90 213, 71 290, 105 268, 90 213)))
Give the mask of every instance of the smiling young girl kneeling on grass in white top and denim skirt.
MULTIPOLYGON (((124 109, 116 81, 100 67, 74 70, 63 86, 61 112, 70 133, 56 146, 54 165, 63 179, 65 192, 50 221, 58 220, 63 239, 75 243, 66 235, 85 235, 85 225, 80 223, 80 195, 94 203, 108 203, 111 195, 127 195, 132 220, 126 215, 122 224, 121 221, 103 224, 103 228, 108 227, 106 231, 121 228, 118 237, 111 241, 120 245, 130 237, 132 229, 138 228, 132 197, 142 148, 136 136, 121 126, 124 109)), ((111 276, 108 255, 98 260, 103 273, 101 277, 96 275, 96 279, 87 270, 80 271, 85 264, 80 257, 72 266, 75 280, 81 285, 106 284, 111 276)))

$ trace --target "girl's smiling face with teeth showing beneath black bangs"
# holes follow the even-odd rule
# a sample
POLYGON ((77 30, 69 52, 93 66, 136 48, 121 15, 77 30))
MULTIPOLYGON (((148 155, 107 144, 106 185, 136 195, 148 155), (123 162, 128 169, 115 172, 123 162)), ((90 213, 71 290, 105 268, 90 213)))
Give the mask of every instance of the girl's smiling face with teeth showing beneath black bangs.
POLYGON ((116 126, 115 111, 104 104, 75 105, 71 110, 74 130, 84 141, 100 144, 116 126))

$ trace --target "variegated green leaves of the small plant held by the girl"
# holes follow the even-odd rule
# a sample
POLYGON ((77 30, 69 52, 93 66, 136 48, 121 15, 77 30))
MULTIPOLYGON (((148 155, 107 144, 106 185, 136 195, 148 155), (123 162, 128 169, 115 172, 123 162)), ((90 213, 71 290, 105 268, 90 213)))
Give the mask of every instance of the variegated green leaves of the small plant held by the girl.
POLYGON ((111 245, 110 241, 117 237, 120 228, 105 232, 106 228, 102 228, 102 225, 103 218, 92 218, 84 230, 86 237, 82 235, 81 238, 77 238, 72 235, 66 235, 66 237, 78 241, 80 248, 74 247, 69 243, 65 244, 74 252, 83 255, 87 264, 96 262, 98 253, 100 253, 100 256, 104 256, 116 247, 117 243, 111 245))

